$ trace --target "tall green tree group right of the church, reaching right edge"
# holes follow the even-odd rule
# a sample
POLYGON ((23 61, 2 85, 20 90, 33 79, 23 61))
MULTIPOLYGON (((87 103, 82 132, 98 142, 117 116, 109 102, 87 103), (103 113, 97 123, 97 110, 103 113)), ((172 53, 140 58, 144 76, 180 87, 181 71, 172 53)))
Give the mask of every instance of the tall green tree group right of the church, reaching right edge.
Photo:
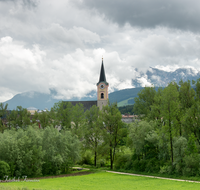
POLYGON ((200 175, 200 79, 146 87, 135 98, 140 122, 129 127, 132 154, 118 158, 116 168, 142 172, 200 175))

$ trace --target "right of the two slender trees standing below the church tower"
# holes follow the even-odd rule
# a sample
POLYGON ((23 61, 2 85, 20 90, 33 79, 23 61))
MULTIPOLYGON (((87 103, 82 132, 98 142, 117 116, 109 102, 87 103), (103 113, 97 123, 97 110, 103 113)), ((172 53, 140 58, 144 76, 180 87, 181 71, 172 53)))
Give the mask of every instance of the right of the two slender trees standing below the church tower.
POLYGON ((117 104, 108 104, 102 109, 102 121, 104 124, 104 143, 108 145, 110 156, 110 168, 113 169, 115 161, 116 148, 120 140, 126 135, 126 129, 123 128, 122 116, 117 109, 117 104))

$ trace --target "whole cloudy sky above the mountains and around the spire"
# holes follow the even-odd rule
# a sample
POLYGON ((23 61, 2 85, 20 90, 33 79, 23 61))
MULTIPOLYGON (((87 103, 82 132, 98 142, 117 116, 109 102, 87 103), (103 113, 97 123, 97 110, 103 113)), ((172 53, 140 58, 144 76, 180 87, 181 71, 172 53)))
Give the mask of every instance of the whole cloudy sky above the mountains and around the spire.
POLYGON ((0 0, 0 102, 84 97, 102 57, 109 92, 150 67, 199 71, 199 18, 199 0, 0 0))

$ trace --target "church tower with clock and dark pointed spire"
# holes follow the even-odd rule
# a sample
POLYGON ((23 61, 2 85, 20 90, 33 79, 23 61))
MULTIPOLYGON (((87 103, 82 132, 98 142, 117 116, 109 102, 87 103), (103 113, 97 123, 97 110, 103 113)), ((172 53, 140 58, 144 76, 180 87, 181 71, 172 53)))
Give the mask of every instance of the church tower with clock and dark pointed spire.
POLYGON ((108 104, 108 87, 109 84, 106 82, 106 75, 102 58, 100 77, 99 82, 97 83, 97 106, 100 110, 102 110, 103 106, 108 104))

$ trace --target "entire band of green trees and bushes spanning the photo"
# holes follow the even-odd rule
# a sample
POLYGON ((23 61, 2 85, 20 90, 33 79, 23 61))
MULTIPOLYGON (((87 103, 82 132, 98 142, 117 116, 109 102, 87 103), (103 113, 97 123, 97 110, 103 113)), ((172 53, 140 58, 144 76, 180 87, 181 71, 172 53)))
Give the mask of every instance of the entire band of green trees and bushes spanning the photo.
POLYGON ((134 101, 138 120, 129 125, 116 104, 84 112, 81 104, 59 102, 31 119, 25 109, 7 113, 0 105, 0 168, 34 176, 64 173, 77 163, 199 176, 200 79, 145 87, 134 101))

